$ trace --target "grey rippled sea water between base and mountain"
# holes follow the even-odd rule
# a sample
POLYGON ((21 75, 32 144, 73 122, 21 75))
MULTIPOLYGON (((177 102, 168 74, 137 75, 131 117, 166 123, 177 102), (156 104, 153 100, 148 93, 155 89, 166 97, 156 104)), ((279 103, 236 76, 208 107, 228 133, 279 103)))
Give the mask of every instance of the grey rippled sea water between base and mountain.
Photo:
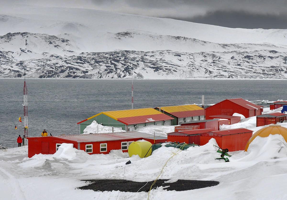
MULTIPOLYGON (((101 111, 131 109, 131 80, 26 79, 28 134, 78 134, 77 122, 101 111)), ((24 79, 0 79, 0 144, 16 147, 24 134, 24 79), (18 129, 15 130, 15 125, 18 129)), ((281 80, 134 80, 134 108, 217 103, 227 98, 286 99, 281 80)))

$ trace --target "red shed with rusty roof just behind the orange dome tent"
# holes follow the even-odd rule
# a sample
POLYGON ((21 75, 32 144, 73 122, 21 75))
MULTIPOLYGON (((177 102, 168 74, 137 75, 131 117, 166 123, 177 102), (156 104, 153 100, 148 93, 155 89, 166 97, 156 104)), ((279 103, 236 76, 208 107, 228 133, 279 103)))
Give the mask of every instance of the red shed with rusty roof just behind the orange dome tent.
POLYGON ((256 126, 265 126, 269 124, 282 123, 287 120, 287 114, 284 113, 268 113, 264 115, 258 115, 256 117, 256 126))

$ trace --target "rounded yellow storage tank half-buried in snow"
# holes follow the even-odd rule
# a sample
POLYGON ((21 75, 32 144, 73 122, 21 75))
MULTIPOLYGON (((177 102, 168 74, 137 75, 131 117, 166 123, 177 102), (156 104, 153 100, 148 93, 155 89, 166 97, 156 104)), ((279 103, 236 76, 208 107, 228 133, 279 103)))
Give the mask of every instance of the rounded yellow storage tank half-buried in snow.
POLYGON ((148 157, 152 154, 152 148, 150 148, 151 146, 152 143, 148 141, 133 142, 129 145, 129 157, 131 157, 132 155, 139 155, 139 157, 141 158, 143 158, 145 155, 146 157, 148 157))

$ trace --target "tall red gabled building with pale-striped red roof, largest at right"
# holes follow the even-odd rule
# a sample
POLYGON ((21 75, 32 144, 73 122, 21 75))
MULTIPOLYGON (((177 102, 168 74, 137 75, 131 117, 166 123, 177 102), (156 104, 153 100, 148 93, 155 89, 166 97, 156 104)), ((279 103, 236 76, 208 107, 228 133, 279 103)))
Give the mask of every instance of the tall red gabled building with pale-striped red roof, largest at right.
POLYGON ((244 99, 226 99, 205 109, 205 119, 213 119, 213 115, 229 115, 234 113, 246 118, 261 115, 263 108, 244 99))

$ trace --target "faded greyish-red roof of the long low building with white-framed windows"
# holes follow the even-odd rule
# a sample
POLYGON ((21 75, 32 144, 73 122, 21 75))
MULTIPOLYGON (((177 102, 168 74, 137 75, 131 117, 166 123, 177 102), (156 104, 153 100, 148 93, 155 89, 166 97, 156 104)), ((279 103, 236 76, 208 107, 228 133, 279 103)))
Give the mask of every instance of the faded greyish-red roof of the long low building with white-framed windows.
POLYGON ((93 134, 80 134, 80 135, 59 135, 52 136, 70 141, 80 142, 101 142, 113 141, 122 139, 140 139, 153 137, 152 134, 140 133, 137 131, 132 132, 118 132, 118 133, 93 133, 93 134))

